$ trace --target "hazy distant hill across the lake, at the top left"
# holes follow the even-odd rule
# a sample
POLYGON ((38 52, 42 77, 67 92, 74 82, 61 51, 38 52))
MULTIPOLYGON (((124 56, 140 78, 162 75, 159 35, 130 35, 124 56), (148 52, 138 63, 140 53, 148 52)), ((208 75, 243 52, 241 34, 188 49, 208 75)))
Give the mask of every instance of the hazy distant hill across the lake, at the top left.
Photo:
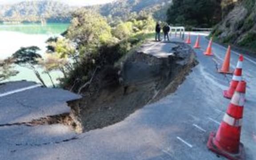
POLYGON ((74 7, 53 0, 24 1, 0 5, 0 21, 10 22, 69 22, 74 7))

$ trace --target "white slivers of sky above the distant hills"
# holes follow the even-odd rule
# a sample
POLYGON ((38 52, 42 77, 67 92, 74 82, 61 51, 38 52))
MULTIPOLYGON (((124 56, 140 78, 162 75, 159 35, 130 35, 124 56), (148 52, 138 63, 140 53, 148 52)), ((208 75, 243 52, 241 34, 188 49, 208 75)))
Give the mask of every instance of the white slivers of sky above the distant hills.
MULTIPOLYGON (((21 1, 29 1, 29 0, 0 0, 0 4, 13 4, 21 1)), ((56 0, 60 2, 64 2, 73 6, 84 6, 84 5, 92 5, 92 4, 104 4, 108 2, 112 2, 113 0, 56 0)))

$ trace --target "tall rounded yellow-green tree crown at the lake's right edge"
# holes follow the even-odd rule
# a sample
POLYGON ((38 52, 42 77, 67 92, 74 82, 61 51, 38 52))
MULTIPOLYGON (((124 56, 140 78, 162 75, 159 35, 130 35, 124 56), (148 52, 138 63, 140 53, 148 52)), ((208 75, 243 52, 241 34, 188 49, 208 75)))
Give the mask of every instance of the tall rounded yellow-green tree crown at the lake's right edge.
POLYGON ((112 43, 111 27, 100 14, 82 8, 76 11, 73 17, 67 37, 79 46, 93 51, 101 45, 112 43))

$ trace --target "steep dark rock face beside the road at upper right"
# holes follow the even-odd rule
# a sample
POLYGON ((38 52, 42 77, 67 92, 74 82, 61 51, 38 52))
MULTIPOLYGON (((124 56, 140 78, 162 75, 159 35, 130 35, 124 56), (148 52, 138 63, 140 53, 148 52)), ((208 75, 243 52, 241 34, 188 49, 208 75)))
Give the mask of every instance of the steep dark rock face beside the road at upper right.
POLYGON ((212 35, 222 43, 232 43, 256 51, 256 1, 223 0, 223 6, 223 10, 230 12, 216 25, 212 35))

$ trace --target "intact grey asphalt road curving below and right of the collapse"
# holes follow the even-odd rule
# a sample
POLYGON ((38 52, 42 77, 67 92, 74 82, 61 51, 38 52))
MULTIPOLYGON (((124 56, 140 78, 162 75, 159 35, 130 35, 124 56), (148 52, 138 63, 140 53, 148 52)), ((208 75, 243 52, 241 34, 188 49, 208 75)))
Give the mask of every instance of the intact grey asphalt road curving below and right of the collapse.
MULTIPOLYGON (((192 44, 195 40, 192 34, 192 44)), ((168 48, 170 43, 151 45, 154 46, 148 52, 168 48)), ((0 127, 0 159, 225 160, 208 151, 206 143, 210 132, 218 129, 230 102, 222 91, 228 88, 232 76, 216 70, 223 62, 226 48, 213 44, 215 56, 207 57, 203 51, 208 40, 202 37, 200 45, 202 49, 195 50, 200 64, 175 93, 145 106, 120 123, 80 135, 60 125, 0 127)), ((161 52, 170 54, 165 49, 161 52)), ((256 60, 246 57, 243 76, 248 87, 241 142, 247 160, 256 160, 256 60)), ((238 54, 232 52, 233 68, 237 60, 238 54)))

